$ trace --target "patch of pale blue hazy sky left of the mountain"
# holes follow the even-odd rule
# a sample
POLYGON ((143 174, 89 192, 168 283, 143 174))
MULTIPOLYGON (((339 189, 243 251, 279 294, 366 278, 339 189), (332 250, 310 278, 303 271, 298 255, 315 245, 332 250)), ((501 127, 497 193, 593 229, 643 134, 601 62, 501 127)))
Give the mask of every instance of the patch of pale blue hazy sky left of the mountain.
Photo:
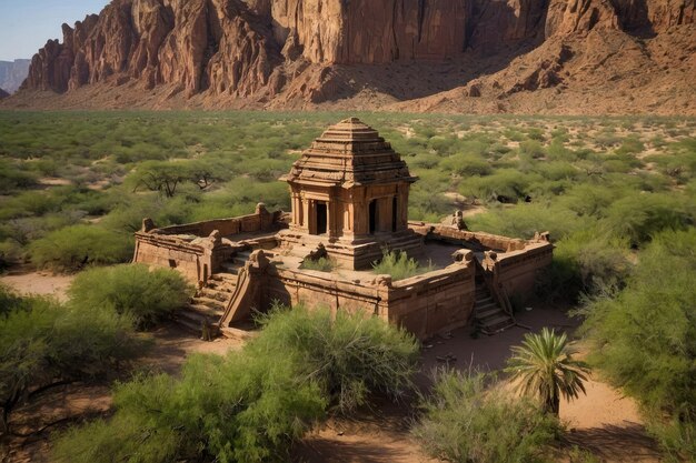
POLYGON ((109 0, 0 0, 0 60, 31 58, 49 39, 60 39, 60 26, 98 13, 109 0))

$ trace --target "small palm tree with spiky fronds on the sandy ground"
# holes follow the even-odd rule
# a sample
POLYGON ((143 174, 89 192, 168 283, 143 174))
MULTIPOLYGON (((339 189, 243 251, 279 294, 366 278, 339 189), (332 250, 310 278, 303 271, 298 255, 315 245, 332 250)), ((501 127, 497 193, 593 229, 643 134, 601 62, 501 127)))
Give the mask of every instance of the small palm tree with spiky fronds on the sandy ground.
POLYGON ((566 333, 556 334, 547 328, 540 334, 525 334, 521 345, 513 348, 505 370, 519 381, 518 391, 525 395, 537 395, 547 413, 558 415, 560 395, 577 399, 585 391, 589 368, 585 362, 573 359, 575 352, 567 345, 566 333))

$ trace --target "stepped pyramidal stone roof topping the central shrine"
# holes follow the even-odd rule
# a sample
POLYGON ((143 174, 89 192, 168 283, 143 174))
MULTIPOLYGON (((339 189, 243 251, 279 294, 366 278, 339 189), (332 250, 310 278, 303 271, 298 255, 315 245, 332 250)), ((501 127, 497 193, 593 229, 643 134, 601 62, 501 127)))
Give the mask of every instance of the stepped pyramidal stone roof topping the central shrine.
POLYGON ((348 189, 395 181, 412 183, 417 178, 375 129, 350 118, 316 139, 284 180, 348 189))

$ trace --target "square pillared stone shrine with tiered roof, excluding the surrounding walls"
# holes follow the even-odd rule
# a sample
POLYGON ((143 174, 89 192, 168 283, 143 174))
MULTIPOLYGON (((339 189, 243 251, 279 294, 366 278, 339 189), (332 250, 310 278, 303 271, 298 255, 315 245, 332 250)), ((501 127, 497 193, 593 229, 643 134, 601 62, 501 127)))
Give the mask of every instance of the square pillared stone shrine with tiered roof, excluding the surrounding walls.
POLYGON ((385 248, 418 251, 408 228, 408 191, 417 179, 376 130, 356 118, 327 129, 284 177, 290 184, 290 228, 280 238, 325 243, 352 269, 369 268, 385 248))

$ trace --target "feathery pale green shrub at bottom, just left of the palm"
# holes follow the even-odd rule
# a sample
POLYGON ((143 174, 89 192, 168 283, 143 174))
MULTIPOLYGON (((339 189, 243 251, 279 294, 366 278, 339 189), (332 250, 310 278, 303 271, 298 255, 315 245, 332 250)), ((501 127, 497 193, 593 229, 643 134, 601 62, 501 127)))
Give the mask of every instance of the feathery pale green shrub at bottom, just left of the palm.
POLYGON ((536 462, 560 426, 536 402, 513 397, 479 373, 441 371, 412 429, 434 457, 461 463, 536 462))

